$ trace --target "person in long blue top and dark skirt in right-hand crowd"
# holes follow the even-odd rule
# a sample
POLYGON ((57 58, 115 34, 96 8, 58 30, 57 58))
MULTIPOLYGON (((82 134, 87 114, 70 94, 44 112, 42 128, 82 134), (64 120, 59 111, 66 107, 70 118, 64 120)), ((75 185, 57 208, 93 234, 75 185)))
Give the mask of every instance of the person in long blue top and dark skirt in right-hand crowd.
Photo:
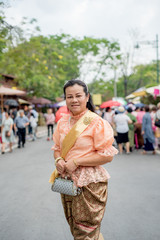
POLYGON ((155 143, 155 137, 152 129, 152 119, 149 113, 149 107, 145 106, 145 114, 142 120, 142 135, 144 139, 144 150, 143 154, 146 154, 148 151, 152 151, 155 154, 155 149, 153 144, 155 143))

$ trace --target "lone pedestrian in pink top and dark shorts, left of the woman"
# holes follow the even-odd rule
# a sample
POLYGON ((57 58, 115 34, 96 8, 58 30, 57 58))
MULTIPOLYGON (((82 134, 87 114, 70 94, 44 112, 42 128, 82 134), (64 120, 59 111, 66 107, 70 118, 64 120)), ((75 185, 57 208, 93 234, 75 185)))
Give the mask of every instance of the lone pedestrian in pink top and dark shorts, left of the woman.
POLYGON ((47 141, 50 140, 50 130, 51 130, 51 136, 53 135, 53 128, 55 124, 55 115, 52 112, 52 109, 49 108, 47 111, 47 114, 44 115, 46 119, 46 125, 47 125, 47 130, 48 130, 48 138, 47 141))

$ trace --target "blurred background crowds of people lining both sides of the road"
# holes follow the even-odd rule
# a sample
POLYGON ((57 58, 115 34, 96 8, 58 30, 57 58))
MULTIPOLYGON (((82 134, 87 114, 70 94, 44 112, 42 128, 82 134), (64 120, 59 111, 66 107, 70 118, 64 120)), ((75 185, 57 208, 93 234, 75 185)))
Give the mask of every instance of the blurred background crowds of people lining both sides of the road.
MULTIPOLYGON (((114 130, 114 145, 119 153, 130 154, 134 149, 142 149, 146 154, 152 151, 153 154, 160 148, 160 127, 155 126, 155 120, 160 119, 160 103, 157 106, 126 108, 107 107, 99 109, 96 113, 108 121, 114 130)), ((9 151, 12 152, 12 145, 18 137, 18 148, 23 148, 26 142, 26 133, 31 141, 36 140, 38 126, 38 112, 32 106, 24 106, 19 111, 12 108, 7 111, 4 108, 1 127, 1 153, 5 153, 5 147, 9 144, 9 151)), ((55 124, 55 114, 51 108, 47 109, 44 115, 47 126, 47 141, 52 139, 55 124)))

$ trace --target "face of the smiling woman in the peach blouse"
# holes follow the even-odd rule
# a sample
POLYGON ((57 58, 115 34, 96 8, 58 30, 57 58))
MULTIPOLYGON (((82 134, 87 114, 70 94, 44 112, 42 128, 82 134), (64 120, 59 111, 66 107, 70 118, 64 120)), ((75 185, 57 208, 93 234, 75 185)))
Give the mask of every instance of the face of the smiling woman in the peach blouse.
POLYGON ((86 96, 82 86, 75 84, 67 87, 65 93, 67 107, 73 115, 78 115, 87 109, 89 96, 86 96))

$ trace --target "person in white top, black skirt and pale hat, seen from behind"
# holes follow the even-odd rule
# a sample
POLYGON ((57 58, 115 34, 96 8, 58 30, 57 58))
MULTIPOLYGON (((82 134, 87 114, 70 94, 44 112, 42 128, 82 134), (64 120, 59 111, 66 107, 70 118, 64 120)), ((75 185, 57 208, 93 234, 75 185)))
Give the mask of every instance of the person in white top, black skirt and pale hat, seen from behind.
POLYGON ((126 153, 130 153, 130 146, 129 146, 129 138, 128 138, 128 131, 129 127, 128 124, 132 123, 132 120, 125 114, 124 107, 118 108, 118 114, 114 116, 114 122, 116 124, 116 131, 117 131, 117 143, 119 147, 120 154, 123 153, 123 143, 126 145, 126 153))

